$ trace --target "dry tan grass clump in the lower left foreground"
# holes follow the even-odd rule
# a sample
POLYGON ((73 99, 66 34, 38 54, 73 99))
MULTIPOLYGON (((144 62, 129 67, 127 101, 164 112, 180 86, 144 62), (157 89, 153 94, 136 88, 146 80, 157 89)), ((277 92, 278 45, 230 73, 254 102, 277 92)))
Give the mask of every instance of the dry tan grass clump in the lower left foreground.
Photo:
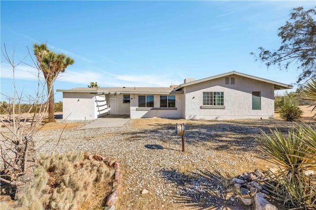
POLYGON ((83 152, 42 156, 35 170, 34 186, 15 208, 78 209, 89 199, 94 184, 114 173, 103 161, 84 159, 83 152))

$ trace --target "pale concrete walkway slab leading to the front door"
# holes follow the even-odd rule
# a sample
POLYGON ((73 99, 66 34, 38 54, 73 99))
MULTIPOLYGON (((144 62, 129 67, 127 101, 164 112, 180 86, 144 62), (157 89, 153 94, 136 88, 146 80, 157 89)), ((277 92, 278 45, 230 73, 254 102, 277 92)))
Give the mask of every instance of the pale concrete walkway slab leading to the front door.
POLYGON ((122 127, 128 120, 129 118, 98 118, 80 129, 122 127))

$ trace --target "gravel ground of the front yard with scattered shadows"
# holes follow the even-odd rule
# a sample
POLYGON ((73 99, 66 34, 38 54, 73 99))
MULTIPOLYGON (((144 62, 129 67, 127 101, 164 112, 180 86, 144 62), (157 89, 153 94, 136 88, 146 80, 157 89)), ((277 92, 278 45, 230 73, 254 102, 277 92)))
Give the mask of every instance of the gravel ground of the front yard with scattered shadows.
POLYGON ((274 120, 181 120, 187 123, 186 152, 182 152, 176 120, 159 127, 134 126, 150 122, 130 119, 120 128, 39 131, 34 140, 44 154, 82 150, 118 160, 124 173, 118 209, 250 210, 239 204, 223 181, 267 164, 258 158, 259 128, 286 131, 292 125, 274 120), (143 189, 149 190, 147 198, 140 193, 143 189))

